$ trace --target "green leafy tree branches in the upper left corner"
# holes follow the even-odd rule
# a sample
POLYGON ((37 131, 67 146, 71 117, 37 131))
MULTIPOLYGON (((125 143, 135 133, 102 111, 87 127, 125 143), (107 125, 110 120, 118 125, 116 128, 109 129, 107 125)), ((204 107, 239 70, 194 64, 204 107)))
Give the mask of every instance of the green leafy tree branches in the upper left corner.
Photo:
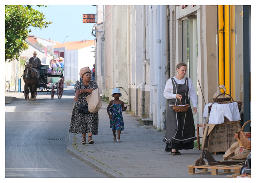
POLYGON ((28 49, 25 39, 31 27, 42 29, 52 24, 44 19, 44 14, 30 5, 5 6, 5 61, 16 59, 21 51, 28 49))

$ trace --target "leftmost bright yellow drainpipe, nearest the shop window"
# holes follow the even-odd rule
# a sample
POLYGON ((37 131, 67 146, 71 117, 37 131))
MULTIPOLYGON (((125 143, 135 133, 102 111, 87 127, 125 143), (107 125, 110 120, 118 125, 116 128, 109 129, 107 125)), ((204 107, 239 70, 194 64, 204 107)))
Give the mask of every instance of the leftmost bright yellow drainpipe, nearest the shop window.
MULTIPOLYGON (((224 47, 223 47, 223 34, 224 34, 224 20, 223 20, 223 5, 218 5, 218 22, 219 22, 219 85, 224 85, 224 47)), ((224 90, 221 89, 224 93, 224 90)))

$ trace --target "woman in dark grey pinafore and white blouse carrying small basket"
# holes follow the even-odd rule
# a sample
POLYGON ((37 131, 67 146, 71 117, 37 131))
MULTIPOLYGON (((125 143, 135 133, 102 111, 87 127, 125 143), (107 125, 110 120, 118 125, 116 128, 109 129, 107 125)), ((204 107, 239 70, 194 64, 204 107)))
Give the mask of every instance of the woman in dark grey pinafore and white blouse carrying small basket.
POLYGON ((193 114, 196 114, 197 96, 191 79, 184 77, 187 71, 185 63, 178 63, 177 75, 168 79, 164 89, 164 97, 169 99, 166 116, 166 135, 163 141, 166 143, 164 151, 171 152, 171 155, 181 154, 179 150, 194 148, 196 140, 193 114), (193 103, 193 111, 190 106, 189 98, 193 103), (186 112, 176 112, 173 105, 189 104, 186 112))

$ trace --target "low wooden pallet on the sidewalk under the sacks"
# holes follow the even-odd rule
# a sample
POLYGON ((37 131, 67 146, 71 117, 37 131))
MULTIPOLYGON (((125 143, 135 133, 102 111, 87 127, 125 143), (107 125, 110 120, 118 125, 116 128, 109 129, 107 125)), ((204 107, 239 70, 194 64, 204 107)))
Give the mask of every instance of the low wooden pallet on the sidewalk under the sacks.
POLYGON ((240 173, 240 169, 242 168, 243 165, 230 165, 230 166, 225 166, 225 165, 216 165, 216 166, 210 166, 208 163, 206 165, 202 166, 196 166, 196 165, 188 165, 188 174, 198 174, 198 173, 207 173, 211 172, 212 175, 221 175, 221 174, 226 174, 226 173, 240 173), (202 168, 197 169, 197 168, 202 168), (198 172, 196 172, 196 169, 198 172), (208 169, 211 169, 211 171, 208 171, 208 169), (223 169, 224 172, 218 172, 218 170, 223 169), (233 171, 231 171, 233 170, 233 171))

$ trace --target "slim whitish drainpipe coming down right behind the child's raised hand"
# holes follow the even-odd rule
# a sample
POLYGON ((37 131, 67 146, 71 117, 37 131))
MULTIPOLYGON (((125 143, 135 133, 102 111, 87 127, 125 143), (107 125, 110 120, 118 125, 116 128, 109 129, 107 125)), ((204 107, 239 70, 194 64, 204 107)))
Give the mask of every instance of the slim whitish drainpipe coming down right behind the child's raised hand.
POLYGON ((127 6, 127 79, 128 79, 128 108, 132 108, 131 104, 131 82, 130 82, 130 5, 127 6))

